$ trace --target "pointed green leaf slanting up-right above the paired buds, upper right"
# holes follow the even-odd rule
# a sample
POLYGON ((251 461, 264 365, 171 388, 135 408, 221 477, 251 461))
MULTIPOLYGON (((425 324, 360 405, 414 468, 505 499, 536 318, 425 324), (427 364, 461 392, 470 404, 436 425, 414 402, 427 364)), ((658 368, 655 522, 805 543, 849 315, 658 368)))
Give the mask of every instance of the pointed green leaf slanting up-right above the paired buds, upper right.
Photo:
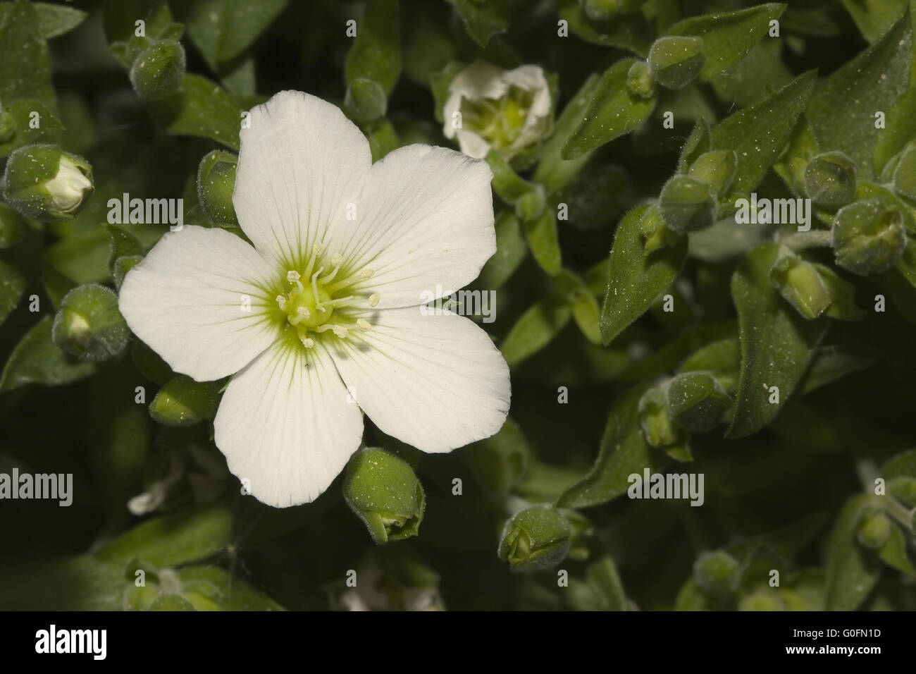
POLYGON ((817 82, 805 72, 778 92, 725 118, 712 130, 712 149, 733 149, 738 168, 732 190, 750 193, 791 136, 817 82))

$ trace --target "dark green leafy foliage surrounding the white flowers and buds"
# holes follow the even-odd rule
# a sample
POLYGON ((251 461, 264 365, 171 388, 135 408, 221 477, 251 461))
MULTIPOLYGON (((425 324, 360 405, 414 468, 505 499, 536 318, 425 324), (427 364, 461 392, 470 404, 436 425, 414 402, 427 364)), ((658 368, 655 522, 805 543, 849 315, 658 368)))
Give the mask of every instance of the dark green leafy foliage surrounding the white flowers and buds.
MULTIPOLYGON (((49 120, 32 132, 16 113, 0 154, 58 142, 92 163, 95 181, 77 217, 27 223, 25 238, 0 249, 0 471, 71 472, 75 492, 69 508, 0 503, 0 608, 339 607, 347 569, 375 568, 391 606, 410 605, 404 589, 422 587, 449 609, 916 609, 913 244, 896 268, 866 277, 837 268, 826 251, 810 253, 855 286, 865 311, 853 321, 802 317, 768 285, 772 250, 754 247, 776 238, 774 227, 726 219, 674 235, 655 257, 638 232, 645 204, 684 171, 694 124, 729 116, 737 121, 718 127, 711 147, 740 157, 749 143, 769 157, 757 167, 739 159, 740 192, 798 192, 791 160, 810 159, 799 139, 810 125, 816 150, 856 160, 860 198, 878 193, 911 224, 914 203, 880 175, 916 138, 910 4, 764 6, 741 39, 707 36, 707 61, 733 63, 680 90, 659 88, 653 105, 621 98, 615 64, 646 58, 686 17, 760 5, 628 2, 594 21, 576 0, 373 4, 378 17, 397 19, 367 23, 367 55, 351 56, 345 23, 363 20, 363 2, 0 3, 0 104, 11 113, 41 105, 49 120), (769 13, 780 17, 779 38, 767 34, 769 13), (132 88, 118 43, 136 17, 183 28, 180 94, 147 102, 132 88), (561 18, 568 37, 558 36, 561 18), (497 291, 496 323, 484 327, 512 367, 507 426, 475 447, 420 456, 367 425, 366 443, 408 460, 423 485, 419 536, 376 547, 344 502, 342 478, 315 503, 256 503, 226 472, 208 419, 163 425, 135 403, 137 385, 148 403, 172 376, 142 345, 86 364, 53 343, 62 295, 89 282, 114 288, 111 262, 142 255, 166 230, 130 226, 121 236, 104 227, 109 198, 183 197, 185 221, 213 227, 197 204, 198 164, 211 149, 237 149, 240 111, 288 88, 344 105, 347 83, 360 76, 390 94, 384 116, 347 108, 376 159, 410 142, 449 145, 436 118, 442 75, 452 61, 475 59, 543 66, 557 85, 558 122, 528 166, 494 160, 499 251, 474 287, 497 291), (748 108, 756 112, 736 116, 748 108), (886 128, 874 127, 875 110, 887 114, 886 128), (674 113, 673 128, 663 127, 664 111, 674 113), (615 126, 621 119, 626 128, 615 126), (565 159, 573 154, 580 159, 565 159), (540 197, 546 208, 532 211, 540 197), (568 221, 553 216, 560 203, 568 221), (739 236, 736 227, 746 228, 739 236), (599 313, 609 280, 627 301, 599 313), (673 313, 662 310, 665 293, 673 313), (878 293, 888 298, 884 313, 872 311, 878 293), (39 312, 29 311, 32 294, 39 312), (649 447, 639 396, 689 357, 687 370, 715 371, 737 387, 725 416, 732 425, 692 435, 687 453, 649 447), (748 397, 768 376, 782 389, 772 408, 748 397), (561 386, 569 403, 558 402, 561 386), (627 499, 626 476, 646 466, 702 472, 705 503, 627 499), (128 500, 168 476, 158 513, 130 514, 128 500), (876 477, 892 493, 875 496, 876 477), (562 506, 572 525, 556 568, 513 572, 497 557, 507 515, 527 503, 562 506), (888 514, 891 534, 869 549, 856 536, 876 513, 888 514), (725 589, 694 570, 715 550, 736 560, 725 589), (133 582, 138 568, 149 571, 143 591, 133 582), (569 571, 569 587, 558 587, 557 569, 569 571), (780 588, 769 587, 769 569, 780 569, 780 588)), ((815 227, 832 217, 821 214, 815 227)))

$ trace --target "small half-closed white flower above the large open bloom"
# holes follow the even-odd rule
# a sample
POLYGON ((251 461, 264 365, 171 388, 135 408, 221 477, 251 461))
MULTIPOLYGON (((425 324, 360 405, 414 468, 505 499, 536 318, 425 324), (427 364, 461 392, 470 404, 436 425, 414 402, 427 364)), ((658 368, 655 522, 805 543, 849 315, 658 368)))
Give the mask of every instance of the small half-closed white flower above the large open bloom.
POLYGON ((442 132, 457 137, 461 151, 474 159, 483 159, 491 147, 511 159, 547 134, 551 111, 551 88, 539 66, 504 71, 476 61, 449 85, 442 132))

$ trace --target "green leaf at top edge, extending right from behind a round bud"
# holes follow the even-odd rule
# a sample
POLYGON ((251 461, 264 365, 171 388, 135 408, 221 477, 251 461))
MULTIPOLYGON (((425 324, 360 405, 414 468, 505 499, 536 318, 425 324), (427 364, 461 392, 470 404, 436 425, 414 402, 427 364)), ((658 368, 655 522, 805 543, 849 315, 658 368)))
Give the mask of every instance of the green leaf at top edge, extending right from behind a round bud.
POLYGON ((744 58, 759 39, 767 34, 769 22, 779 18, 785 8, 785 5, 779 3, 769 3, 737 12, 686 18, 666 30, 665 35, 703 38, 703 56, 706 61, 700 78, 710 80, 744 58))

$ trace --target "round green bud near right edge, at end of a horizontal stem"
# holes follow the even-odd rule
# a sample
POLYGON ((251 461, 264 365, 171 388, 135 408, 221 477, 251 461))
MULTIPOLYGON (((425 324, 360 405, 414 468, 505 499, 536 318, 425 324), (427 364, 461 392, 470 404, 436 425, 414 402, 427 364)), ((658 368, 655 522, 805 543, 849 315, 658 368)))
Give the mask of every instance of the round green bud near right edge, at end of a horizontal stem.
POLYGON ((880 199, 844 206, 831 231, 836 263, 862 276, 888 271, 907 246, 903 214, 880 199))

